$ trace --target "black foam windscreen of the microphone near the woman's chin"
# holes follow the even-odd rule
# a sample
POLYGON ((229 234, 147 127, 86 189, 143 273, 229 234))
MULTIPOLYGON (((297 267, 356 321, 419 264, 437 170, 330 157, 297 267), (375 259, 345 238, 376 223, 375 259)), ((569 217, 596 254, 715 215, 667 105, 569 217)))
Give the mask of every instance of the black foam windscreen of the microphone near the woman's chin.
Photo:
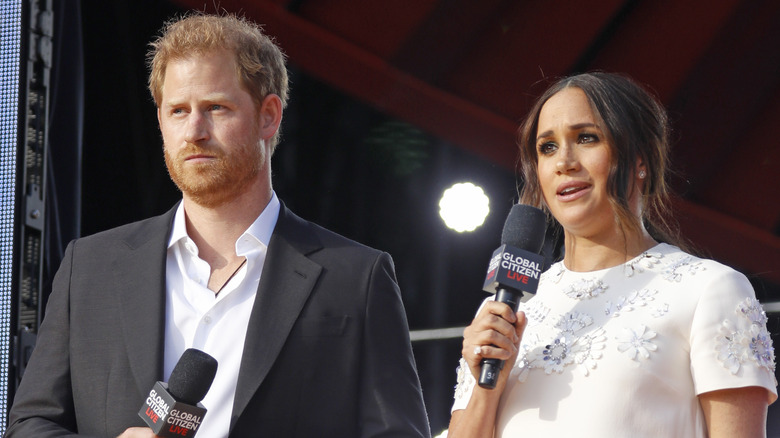
POLYGON ((539 254, 544 245, 547 215, 536 207, 515 204, 504 222, 501 244, 539 254))

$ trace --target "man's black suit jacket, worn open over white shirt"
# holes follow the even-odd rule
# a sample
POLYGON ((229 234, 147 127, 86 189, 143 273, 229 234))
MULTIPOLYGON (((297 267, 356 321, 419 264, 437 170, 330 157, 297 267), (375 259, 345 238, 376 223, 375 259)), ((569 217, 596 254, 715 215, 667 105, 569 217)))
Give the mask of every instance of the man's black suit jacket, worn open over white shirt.
MULTIPOLYGON (((144 425, 138 410, 162 380, 174 211, 68 246, 6 436, 113 437, 144 425)), ((282 205, 230 436, 429 435, 390 256, 282 205)))

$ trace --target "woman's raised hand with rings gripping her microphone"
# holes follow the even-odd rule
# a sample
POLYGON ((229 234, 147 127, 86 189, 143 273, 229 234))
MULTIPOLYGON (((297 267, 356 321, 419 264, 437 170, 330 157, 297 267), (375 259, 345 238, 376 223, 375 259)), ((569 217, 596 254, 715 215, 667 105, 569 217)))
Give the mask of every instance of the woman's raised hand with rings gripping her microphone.
POLYGON ((512 313, 508 305, 497 301, 485 302, 471 325, 463 331, 461 354, 475 379, 479 380, 482 359, 505 360, 508 366, 499 375, 499 385, 503 388, 508 370, 517 359, 526 323, 523 312, 512 313))

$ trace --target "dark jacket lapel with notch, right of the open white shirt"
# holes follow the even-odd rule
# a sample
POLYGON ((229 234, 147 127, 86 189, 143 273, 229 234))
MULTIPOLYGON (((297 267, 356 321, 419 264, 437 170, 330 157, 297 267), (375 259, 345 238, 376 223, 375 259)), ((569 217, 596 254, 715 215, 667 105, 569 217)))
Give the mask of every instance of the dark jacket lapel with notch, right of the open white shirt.
POLYGON ((321 247, 306 223, 282 205, 249 318, 231 429, 268 375, 317 282, 322 267, 306 255, 321 247))

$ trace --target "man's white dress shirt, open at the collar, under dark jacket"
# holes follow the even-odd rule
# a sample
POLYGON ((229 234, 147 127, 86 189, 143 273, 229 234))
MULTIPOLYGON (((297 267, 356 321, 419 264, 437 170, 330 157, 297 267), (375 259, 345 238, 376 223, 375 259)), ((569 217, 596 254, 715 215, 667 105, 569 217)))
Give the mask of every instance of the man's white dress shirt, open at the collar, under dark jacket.
POLYGON ((246 263, 219 294, 208 288, 211 268, 198 257, 198 247, 187 235, 183 204, 176 211, 165 271, 164 378, 168 381, 187 348, 217 359, 217 375, 202 401, 208 412, 198 436, 228 435, 249 315, 279 208, 279 199, 272 193, 266 208, 236 241, 236 255, 246 257, 246 263))

